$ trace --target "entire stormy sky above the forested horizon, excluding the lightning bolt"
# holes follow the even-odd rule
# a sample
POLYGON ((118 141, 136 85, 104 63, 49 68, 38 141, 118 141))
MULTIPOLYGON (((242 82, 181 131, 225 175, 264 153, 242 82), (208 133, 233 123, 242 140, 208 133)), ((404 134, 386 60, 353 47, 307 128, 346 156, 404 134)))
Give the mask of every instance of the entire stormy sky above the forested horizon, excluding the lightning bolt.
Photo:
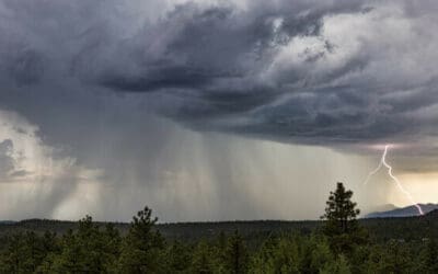
POLYGON ((0 0, 0 219, 316 219, 438 196, 431 0, 0 0))

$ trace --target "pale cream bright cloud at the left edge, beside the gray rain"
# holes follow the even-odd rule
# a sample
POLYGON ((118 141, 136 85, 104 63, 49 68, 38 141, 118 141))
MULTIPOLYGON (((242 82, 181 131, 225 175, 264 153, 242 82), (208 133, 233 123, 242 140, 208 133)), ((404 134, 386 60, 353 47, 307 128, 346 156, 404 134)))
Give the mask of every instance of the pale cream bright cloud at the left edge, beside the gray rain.
POLYGON ((100 176, 44 145, 37 130, 21 115, 0 111, 1 218, 50 217, 78 184, 100 176))

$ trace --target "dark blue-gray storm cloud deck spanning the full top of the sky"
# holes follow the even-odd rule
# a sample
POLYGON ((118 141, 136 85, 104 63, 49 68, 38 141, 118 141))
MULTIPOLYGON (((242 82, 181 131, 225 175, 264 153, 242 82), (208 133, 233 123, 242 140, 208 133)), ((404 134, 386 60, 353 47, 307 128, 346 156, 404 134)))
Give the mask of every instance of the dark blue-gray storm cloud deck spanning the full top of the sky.
POLYGON ((281 141, 437 134, 434 2, 0 3, 2 105, 26 116, 67 98, 92 115, 103 90, 198 130, 281 141))

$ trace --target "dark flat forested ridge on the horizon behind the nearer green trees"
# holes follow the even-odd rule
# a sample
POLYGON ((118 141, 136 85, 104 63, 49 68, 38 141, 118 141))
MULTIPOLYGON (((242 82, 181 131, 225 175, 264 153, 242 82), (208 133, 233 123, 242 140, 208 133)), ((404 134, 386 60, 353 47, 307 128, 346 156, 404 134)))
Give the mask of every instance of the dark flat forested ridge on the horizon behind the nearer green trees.
MULTIPOLYGON (((429 236, 438 237, 438 210, 425 216, 414 217, 378 217, 364 218, 359 222, 368 228, 370 233, 380 240, 388 239, 422 239, 429 236)), ((106 222, 97 222, 104 226, 106 222)), ((239 230, 247 238, 256 238, 269 233, 297 231, 310 233, 321 226, 320 220, 253 220, 253 221, 218 221, 218 222, 174 222, 159 224, 157 229, 168 239, 197 240, 200 238, 214 238, 220 232, 231 233, 239 230)), ((122 233, 129 227, 127 222, 114 222, 122 233)), ((48 219, 28 219, 15 222, 0 222, 0 237, 20 231, 54 231, 62 235, 69 229, 76 229, 77 221, 61 221, 48 219)))

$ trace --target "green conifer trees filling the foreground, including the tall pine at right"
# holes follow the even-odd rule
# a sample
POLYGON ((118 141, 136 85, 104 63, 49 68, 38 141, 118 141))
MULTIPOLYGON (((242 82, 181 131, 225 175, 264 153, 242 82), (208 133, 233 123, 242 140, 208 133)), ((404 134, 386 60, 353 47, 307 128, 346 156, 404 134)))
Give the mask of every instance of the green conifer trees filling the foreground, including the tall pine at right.
POLYGON ((124 235, 87 216, 61 236, 27 231, 2 239, 0 273, 438 273, 434 238, 376 241, 356 220, 351 196, 338 183, 321 228, 266 235, 255 246, 239 231, 166 240, 148 207, 124 235))

